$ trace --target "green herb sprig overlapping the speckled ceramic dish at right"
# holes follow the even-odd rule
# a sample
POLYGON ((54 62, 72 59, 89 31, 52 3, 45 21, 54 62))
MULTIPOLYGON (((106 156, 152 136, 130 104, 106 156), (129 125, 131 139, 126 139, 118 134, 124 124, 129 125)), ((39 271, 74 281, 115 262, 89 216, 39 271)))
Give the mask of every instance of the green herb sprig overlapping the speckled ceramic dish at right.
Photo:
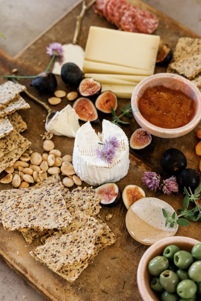
POLYGON ((200 197, 201 192, 201 184, 196 188, 194 194, 191 191, 190 187, 188 188, 189 191, 184 187, 184 201, 183 206, 184 209, 178 209, 177 211, 180 213, 176 216, 176 212, 172 214, 172 216, 168 215, 168 212, 163 208, 163 216, 166 218, 165 226, 169 224, 171 228, 174 228, 174 225, 177 224, 179 226, 188 226, 190 225, 190 221, 201 221, 201 206, 198 205, 197 200, 200 197), (189 203, 192 202, 195 204, 193 209, 188 209, 189 203))

